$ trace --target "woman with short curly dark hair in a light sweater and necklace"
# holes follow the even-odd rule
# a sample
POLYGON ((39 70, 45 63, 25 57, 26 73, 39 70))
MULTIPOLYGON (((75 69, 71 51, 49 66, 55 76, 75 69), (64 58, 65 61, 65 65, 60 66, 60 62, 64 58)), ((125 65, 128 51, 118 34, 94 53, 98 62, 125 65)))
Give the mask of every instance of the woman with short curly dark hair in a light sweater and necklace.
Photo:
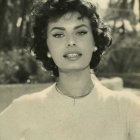
POLYGON ((37 3, 33 50, 58 81, 16 99, 0 115, 1 140, 140 140, 140 105, 91 77, 111 43, 87 0, 37 3))

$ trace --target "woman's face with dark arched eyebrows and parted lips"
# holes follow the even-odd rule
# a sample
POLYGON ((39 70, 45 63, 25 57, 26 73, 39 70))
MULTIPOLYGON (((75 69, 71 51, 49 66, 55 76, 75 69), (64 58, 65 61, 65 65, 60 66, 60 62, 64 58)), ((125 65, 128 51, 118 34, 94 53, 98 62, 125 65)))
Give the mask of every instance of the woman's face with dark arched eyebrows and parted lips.
POLYGON ((89 67, 95 42, 88 18, 70 12, 47 27, 47 45, 59 71, 89 67))

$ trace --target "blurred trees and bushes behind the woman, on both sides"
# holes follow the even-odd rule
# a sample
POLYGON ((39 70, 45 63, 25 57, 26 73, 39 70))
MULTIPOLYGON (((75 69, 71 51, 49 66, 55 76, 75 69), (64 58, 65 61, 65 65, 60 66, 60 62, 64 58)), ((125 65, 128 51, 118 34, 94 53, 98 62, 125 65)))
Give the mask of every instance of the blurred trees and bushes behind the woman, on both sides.
MULTIPOLYGON (((30 10, 34 0, 0 0, 0 84, 51 82, 55 78, 30 54, 30 10)), ((99 77, 120 76, 140 88, 140 0, 109 0, 103 10, 113 42, 96 68, 99 77)))

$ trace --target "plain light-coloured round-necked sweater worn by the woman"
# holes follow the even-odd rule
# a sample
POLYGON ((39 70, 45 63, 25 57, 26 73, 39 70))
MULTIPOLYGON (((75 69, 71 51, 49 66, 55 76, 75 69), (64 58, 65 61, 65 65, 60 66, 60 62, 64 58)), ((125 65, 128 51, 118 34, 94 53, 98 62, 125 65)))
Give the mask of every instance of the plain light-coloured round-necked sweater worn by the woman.
POLYGON ((16 99, 0 114, 0 140, 140 140, 140 101, 95 83, 80 99, 55 84, 16 99))

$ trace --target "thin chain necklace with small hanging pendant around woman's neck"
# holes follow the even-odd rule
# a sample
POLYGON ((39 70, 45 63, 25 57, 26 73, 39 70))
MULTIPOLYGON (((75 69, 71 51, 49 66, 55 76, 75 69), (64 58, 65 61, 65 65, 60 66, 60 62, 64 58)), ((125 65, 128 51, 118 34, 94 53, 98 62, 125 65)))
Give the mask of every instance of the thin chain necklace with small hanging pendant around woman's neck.
POLYGON ((74 105, 75 105, 75 100, 76 100, 76 99, 84 98, 84 97, 88 96, 88 95, 91 93, 91 91, 93 90, 93 88, 94 88, 94 85, 91 84, 90 89, 89 89, 89 91, 88 91, 86 94, 80 95, 80 96, 71 96, 71 95, 64 94, 64 92, 62 92, 62 90, 60 90, 60 89, 58 88, 57 83, 56 83, 56 85, 55 85, 55 89, 56 89, 56 91, 57 91, 58 93, 60 93, 60 94, 62 94, 62 95, 65 95, 65 96, 68 96, 68 97, 74 99, 74 105))

